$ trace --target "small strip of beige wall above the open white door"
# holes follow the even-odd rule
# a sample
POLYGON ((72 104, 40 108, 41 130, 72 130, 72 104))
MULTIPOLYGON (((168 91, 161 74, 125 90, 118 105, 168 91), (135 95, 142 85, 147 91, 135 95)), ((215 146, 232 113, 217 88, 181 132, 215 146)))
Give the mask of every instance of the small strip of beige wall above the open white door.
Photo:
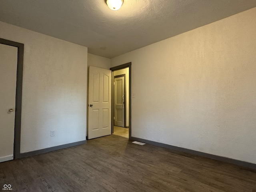
POLYGON ((88 53, 88 66, 110 69, 110 59, 88 53))

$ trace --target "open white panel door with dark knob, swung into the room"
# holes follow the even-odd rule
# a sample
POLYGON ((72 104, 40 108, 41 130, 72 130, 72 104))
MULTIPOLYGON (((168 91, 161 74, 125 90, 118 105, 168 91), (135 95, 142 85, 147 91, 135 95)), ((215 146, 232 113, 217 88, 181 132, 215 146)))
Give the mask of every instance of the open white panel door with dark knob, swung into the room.
POLYGON ((89 66, 88 139, 111 134, 111 70, 89 66))

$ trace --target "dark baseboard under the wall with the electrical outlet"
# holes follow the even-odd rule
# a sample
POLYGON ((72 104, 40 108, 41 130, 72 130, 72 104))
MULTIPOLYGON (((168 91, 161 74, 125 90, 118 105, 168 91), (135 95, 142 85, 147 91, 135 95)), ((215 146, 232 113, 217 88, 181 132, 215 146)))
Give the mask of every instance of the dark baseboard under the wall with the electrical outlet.
POLYGON ((77 146, 77 145, 86 144, 86 142, 87 142, 86 140, 78 141, 78 142, 74 142, 74 143, 68 143, 68 144, 54 146, 54 147, 45 148, 45 149, 40 149, 40 150, 36 150, 36 151, 21 153, 20 158, 29 157, 29 156, 33 156, 33 155, 38 155, 38 154, 42 154, 42 153, 48 153, 48 152, 51 152, 51 151, 56 151, 56 150, 64 149, 64 148, 68 148, 68 147, 74 147, 74 146, 77 146))

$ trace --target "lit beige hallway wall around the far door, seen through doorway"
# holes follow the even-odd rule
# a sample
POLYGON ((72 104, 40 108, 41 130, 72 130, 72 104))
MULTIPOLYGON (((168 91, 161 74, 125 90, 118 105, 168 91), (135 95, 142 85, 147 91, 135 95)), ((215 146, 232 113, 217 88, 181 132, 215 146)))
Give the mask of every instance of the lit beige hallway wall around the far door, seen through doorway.
POLYGON ((114 76, 125 74, 125 88, 126 88, 126 124, 129 126, 129 68, 114 71, 114 76))

